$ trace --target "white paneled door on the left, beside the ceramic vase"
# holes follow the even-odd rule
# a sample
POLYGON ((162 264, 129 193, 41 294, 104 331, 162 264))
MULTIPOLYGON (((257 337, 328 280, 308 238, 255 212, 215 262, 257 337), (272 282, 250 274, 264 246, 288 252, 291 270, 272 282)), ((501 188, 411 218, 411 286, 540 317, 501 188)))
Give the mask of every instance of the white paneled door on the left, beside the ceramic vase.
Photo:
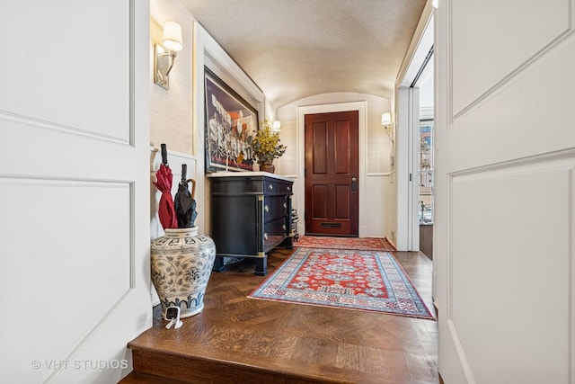
POLYGON ((115 383, 151 326, 149 3, 0 4, 0 371, 115 383))

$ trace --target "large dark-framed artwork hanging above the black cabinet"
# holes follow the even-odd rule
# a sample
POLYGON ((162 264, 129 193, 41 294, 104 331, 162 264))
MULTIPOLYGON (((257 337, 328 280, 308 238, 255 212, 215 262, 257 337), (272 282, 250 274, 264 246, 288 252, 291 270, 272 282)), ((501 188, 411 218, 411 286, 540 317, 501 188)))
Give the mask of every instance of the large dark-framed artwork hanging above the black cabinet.
POLYGON ((258 111, 205 67, 206 172, 253 171, 248 138, 258 129, 258 111))

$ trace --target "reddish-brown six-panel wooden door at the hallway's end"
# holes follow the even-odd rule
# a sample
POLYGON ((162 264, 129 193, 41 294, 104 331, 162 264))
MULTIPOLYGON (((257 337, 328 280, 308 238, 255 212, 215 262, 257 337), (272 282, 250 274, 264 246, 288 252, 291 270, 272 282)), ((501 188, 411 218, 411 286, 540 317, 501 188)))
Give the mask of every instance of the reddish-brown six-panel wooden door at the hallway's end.
POLYGON ((305 115, 305 170, 305 233, 358 236, 358 112, 305 115))

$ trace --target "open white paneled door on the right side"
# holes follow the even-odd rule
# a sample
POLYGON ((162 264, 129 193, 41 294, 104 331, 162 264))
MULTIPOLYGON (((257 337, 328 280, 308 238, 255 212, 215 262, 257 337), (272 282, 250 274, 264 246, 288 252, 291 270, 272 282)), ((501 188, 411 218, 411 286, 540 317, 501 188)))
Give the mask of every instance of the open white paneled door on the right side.
POLYGON ((575 383, 575 4, 436 13, 434 268, 447 384, 575 383))

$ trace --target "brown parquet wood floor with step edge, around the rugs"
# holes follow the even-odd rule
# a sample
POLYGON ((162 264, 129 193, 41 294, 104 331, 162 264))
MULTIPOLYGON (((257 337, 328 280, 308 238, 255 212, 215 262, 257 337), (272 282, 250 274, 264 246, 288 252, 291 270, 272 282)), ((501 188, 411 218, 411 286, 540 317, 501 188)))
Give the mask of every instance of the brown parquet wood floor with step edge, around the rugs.
MULTIPOLYGON (((272 251, 268 273, 291 252, 272 251)), ((433 311, 429 258, 394 255, 433 311)), ((253 272, 247 259, 212 273, 203 313, 175 331, 156 322, 128 344, 134 372, 121 382, 439 382, 436 321, 247 299, 265 279, 253 272)))

